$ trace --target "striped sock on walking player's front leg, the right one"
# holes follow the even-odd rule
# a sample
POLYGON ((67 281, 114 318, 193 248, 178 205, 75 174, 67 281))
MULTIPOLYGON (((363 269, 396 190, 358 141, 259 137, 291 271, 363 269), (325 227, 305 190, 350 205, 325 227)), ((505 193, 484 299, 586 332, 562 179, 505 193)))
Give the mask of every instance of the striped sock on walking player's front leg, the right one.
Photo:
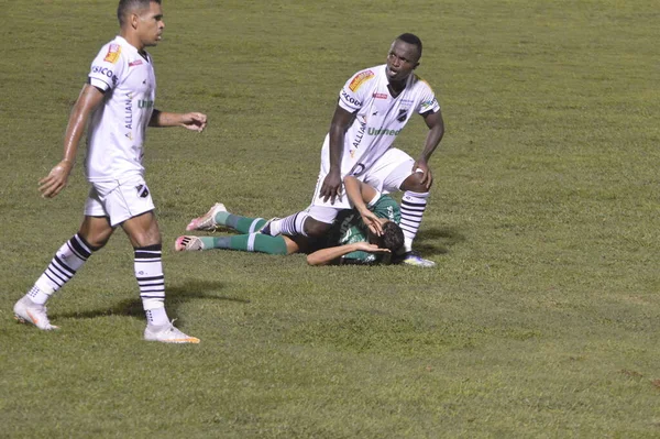
POLYGON ((148 325, 166 325, 165 276, 163 274, 162 244, 134 249, 135 278, 148 325))

